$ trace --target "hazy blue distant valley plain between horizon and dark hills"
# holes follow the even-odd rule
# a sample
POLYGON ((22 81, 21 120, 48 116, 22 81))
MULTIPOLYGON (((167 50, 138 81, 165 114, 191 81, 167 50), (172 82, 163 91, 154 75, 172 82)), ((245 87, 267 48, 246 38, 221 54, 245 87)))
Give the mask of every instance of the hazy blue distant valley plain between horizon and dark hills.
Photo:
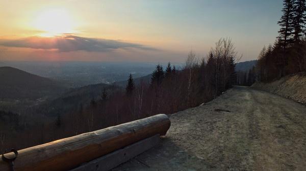
MULTIPOLYGON (((135 78, 143 77, 151 74, 155 65, 148 62, 0 61, 0 67, 15 67, 65 83, 72 88, 99 83, 112 84, 126 80, 129 73, 133 73, 135 78)), ((177 63, 177 66, 180 65, 177 63)))

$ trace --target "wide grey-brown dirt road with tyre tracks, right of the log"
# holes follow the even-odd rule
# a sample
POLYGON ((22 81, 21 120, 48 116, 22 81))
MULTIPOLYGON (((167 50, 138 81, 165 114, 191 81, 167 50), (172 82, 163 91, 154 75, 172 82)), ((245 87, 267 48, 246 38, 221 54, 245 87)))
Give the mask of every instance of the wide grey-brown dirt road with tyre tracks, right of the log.
POLYGON ((157 147, 118 170, 306 170, 306 106, 235 87, 170 116, 157 147))

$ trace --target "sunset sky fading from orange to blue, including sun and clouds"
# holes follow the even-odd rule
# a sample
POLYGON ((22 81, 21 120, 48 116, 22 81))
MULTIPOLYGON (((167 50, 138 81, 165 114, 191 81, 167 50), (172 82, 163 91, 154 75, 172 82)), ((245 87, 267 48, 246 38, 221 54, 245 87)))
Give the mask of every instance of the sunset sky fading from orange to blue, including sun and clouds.
POLYGON ((184 62, 220 38, 273 44, 281 0, 0 0, 0 60, 184 62))

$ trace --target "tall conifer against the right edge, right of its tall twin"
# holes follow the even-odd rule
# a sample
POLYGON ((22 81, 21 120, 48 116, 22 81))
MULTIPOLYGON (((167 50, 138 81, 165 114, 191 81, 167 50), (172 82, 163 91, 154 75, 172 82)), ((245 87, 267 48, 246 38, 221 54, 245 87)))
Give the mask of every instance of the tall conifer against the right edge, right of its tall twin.
POLYGON ((294 8, 294 42, 299 44, 305 35, 306 23, 306 0, 296 0, 293 4, 294 8))

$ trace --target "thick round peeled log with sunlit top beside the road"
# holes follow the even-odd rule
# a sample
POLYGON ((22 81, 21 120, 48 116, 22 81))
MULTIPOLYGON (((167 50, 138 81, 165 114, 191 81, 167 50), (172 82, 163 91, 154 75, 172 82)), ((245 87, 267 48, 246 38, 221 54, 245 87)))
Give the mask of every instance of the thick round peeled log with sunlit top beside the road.
MULTIPOLYGON (((169 127, 168 116, 159 114, 19 150, 15 170, 69 170, 150 136, 165 135, 169 127)), ((6 156, 13 157, 13 153, 6 156)), ((0 171, 9 171, 9 164, 1 160, 0 171)))

